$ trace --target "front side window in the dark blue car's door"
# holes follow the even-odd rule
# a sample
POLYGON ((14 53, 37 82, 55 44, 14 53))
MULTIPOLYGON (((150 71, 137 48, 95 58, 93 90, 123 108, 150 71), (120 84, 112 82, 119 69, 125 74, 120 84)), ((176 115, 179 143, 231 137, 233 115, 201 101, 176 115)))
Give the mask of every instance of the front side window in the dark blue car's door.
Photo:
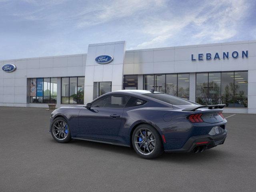
POLYGON ((108 95, 94 101, 91 107, 124 108, 129 98, 125 95, 108 95))

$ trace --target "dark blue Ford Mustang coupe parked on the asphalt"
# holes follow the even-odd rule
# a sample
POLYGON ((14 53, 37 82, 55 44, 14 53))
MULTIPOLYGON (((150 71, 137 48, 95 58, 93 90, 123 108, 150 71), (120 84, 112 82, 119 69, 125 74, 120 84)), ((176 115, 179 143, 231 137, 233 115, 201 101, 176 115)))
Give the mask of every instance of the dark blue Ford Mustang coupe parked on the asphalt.
POLYGON ((225 141, 224 106, 202 106, 154 90, 114 91, 86 106, 54 110, 50 133, 61 143, 74 138, 133 147, 143 158, 202 152, 225 141))

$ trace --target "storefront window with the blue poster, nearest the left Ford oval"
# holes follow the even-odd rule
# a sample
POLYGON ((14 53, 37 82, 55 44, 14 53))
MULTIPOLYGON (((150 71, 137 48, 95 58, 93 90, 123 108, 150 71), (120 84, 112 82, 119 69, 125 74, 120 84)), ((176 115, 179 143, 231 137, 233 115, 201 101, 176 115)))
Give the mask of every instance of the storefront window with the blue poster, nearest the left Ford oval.
POLYGON ((57 78, 31 78, 30 103, 56 103, 57 78))

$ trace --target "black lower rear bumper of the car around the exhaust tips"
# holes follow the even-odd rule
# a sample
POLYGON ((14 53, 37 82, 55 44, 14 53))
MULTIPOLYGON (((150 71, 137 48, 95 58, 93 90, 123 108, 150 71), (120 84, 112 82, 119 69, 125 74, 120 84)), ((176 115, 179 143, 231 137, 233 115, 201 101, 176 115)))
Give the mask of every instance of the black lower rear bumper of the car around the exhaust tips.
POLYGON ((224 133, 218 134, 216 136, 211 135, 200 135, 200 136, 193 136, 188 139, 188 141, 184 144, 184 146, 180 149, 171 149, 171 150, 164 150, 165 152, 191 152, 197 146, 204 146, 206 149, 210 149, 216 147, 217 145, 221 145, 224 143, 227 136, 227 131, 225 130, 224 133), (207 142, 200 144, 199 142, 207 142))

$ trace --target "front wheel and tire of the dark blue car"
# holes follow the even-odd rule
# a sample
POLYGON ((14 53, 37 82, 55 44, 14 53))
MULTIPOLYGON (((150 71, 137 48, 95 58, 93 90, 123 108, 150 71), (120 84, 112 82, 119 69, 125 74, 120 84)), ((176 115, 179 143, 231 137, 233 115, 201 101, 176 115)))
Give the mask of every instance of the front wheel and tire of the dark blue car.
POLYGON ((53 120, 51 134, 60 143, 66 143, 71 140, 70 128, 65 118, 58 117, 53 120))

